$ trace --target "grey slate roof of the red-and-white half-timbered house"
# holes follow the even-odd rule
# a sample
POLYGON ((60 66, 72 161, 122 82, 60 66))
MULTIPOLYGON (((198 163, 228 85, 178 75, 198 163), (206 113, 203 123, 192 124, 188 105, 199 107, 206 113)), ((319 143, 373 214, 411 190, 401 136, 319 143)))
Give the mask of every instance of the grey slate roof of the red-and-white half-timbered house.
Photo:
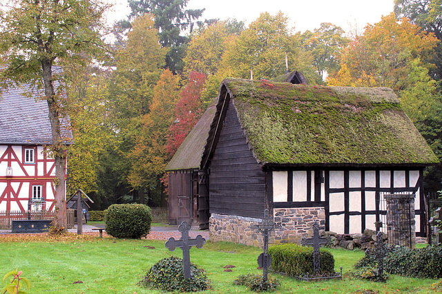
MULTIPOLYGON (((0 94, 0 143, 41 144, 52 143, 48 118, 48 103, 23 96, 26 87, 10 87, 0 94)), ((68 121, 63 123, 68 125, 68 121)), ((70 130, 65 131, 65 143, 72 138, 70 130)))

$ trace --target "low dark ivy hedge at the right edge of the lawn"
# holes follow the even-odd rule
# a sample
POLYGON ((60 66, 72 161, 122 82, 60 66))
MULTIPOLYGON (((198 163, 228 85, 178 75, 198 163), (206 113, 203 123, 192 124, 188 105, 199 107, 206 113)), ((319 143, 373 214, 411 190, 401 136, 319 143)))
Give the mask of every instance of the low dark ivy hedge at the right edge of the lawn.
MULTIPOLYGON (((377 263, 376 252, 366 251, 365 257, 355 264, 359 269, 377 263)), ((442 246, 427 246, 409 249, 400 246, 387 246, 387 256, 383 262, 384 270, 395 275, 421 278, 442 277, 442 246)))

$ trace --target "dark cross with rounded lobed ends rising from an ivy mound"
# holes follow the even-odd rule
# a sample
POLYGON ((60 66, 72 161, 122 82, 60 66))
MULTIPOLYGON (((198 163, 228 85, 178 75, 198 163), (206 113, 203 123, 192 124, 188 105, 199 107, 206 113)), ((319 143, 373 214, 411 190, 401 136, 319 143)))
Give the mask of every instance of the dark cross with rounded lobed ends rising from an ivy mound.
POLYGON ((184 279, 191 278, 191 254, 190 249, 192 246, 196 248, 202 248, 202 245, 206 243, 206 239, 202 238, 201 235, 196 236, 195 239, 189 239, 189 231, 191 225, 187 222, 182 222, 178 227, 178 231, 181 232, 180 240, 175 240, 175 238, 169 238, 166 242, 166 247, 170 251, 174 251, 175 248, 180 247, 182 249, 182 266, 184 269, 184 279))

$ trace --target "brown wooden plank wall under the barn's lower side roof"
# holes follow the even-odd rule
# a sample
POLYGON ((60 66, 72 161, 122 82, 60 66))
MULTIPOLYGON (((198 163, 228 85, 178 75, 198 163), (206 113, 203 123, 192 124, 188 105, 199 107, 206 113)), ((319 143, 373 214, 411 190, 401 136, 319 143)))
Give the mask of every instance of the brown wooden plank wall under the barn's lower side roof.
MULTIPOLYGON (((169 174, 169 224, 179 224, 182 214, 186 210, 190 210, 192 216, 192 206, 180 207, 178 204, 179 196, 187 196, 190 200, 193 199, 193 185, 191 171, 177 171, 169 174)), ((192 201, 190 201, 192 203, 192 201)))

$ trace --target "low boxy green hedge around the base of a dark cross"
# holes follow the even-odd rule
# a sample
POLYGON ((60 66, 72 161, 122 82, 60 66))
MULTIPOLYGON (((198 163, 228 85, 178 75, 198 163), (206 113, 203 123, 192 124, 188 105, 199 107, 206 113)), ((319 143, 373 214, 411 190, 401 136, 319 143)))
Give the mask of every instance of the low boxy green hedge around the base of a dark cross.
MULTIPOLYGON (((334 273, 332 253, 320 249, 320 272, 334 273)), ((269 248, 271 269, 292 277, 314 273, 313 248, 297 244, 280 244, 269 248)))

